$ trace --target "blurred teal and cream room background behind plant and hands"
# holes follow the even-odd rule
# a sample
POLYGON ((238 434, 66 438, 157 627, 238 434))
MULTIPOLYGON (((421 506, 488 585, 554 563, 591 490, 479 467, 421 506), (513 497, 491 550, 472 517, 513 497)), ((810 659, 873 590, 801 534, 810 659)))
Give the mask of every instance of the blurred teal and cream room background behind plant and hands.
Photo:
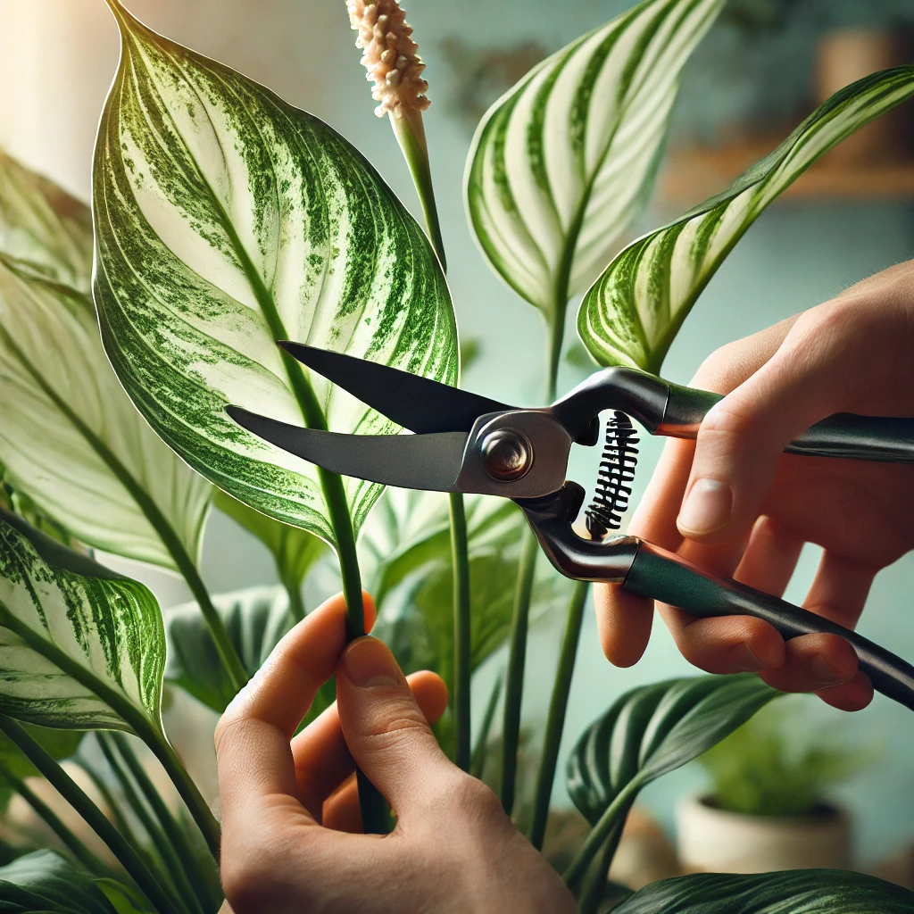
MULTIPOLYGON (((129 0, 155 29, 241 70, 314 112, 371 159, 414 210, 409 175, 387 123, 372 115, 364 70, 344 0, 129 0)), ((536 403, 545 346, 538 314, 487 269, 462 207, 463 165, 473 127, 497 96, 546 53, 629 5, 627 0, 410 0, 409 22, 428 63, 426 116, 432 169, 462 340, 479 355, 464 387, 497 399, 536 403)), ((771 149, 816 101, 873 69, 902 60, 914 8, 910 0, 732 0, 685 70, 668 165, 636 233, 673 218, 723 189, 771 149)), ((89 196, 90 155, 118 40, 102 0, 0 0, 0 144, 80 197, 89 196)), ((685 383, 717 346, 820 303, 865 276, 914 256, 914 164, 906 154, 909 109, 839 150, 766 212, 711 282, 685 323, 664 376, 685 383)), ((592 370, 573 330, 559 387, 592 370)), ((643 443, 638 492, 659 452, 643 443)), ((847 517, 853 525, 855 519, 847 517)), ((807 548, 787 598, 802 601, 817 556, 807 548)), ((122 563, 122 565, 125 563, 122 563)), ((164 606, 187 599, 182 585, 148 569, 164 606)), ((267 552, 226 517, 207 530, 204 574, 214 592, 273 583, 267 552)), ((878 577, 860 630, 914 659, 914 556, 878 577)), ((313 605, 313 604, 312 604, 313 605)), ((530 728, 545 716, 562 620, 532 636, 525 696, 530 728)), ((491 670, 504 664, 494 657, 491 670)), ((564 749, 611 701, 634 685, 695 671, 661 625, 643 661, 617 670, 600 654, 587 616, 572 687, 564 749)), ((494 672, 477 677, 476 719, 494 672)), ((866 749, 829 796, 854 822, 854 860, 862 868, 903 859, 914 841, 914 717, 877 696, 843 716, 802 701, 793 732, 823 728, 866 749)), ((789 731, 787 731, 789 734, 789 731)), ((787 739, 790 737, 788 735, 787 739)), ((559 771, 562 771, 560 768, 559 771)), ((563 779, 555 802, 569 805, 563 779)), ((698 766, 675 772, 643 794, 643 806, 672 832, 676 803, 701 790, 698 766)))

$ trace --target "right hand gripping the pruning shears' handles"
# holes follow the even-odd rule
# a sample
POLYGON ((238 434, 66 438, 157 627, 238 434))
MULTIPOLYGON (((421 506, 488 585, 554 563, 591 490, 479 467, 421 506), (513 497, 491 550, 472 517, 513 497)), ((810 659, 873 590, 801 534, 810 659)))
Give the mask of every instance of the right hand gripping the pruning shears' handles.
MULTIPOLYGON (((803 606, 854 628, 877 571, 914 547, 914 468, 783 448, 836 412, 914 415, 914 261, 718 349, 692 384, 728 396, 697 441, 667 442, 629 532, 778 596, 802 544, 816 543, 824 554, 803 606)), ((602 585, 596 607, 603 652, 635 663, 651 601, 602 585)), ((759 671, 845 710, 872 698, 853 648, 835 635, 784 643, 759 619, 657 609, 685 658, 708 672, 759 671)))

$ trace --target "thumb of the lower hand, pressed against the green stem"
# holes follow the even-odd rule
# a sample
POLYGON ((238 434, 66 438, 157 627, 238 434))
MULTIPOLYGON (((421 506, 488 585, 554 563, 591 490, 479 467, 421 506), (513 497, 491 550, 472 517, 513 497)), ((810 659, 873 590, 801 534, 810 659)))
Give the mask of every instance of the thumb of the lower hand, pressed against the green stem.
POLYGON ((436 781, 458 771, 441 751, 393 654, 377 638, 358 638, 345 649, 336 704, 356 764, 399 818, 425 804, 436 781))

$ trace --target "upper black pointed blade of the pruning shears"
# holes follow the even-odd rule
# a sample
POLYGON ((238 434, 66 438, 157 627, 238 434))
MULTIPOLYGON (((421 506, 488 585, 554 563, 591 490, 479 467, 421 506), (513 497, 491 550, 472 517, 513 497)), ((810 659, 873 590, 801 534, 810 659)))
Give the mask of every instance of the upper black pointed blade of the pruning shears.
POLYGON ((343 356, 303 343, 281 342, 280 345, 303 365, 410 431, 423 434, 469 431, 480 416, 513 409, 497 400, 364 358, 343 356))

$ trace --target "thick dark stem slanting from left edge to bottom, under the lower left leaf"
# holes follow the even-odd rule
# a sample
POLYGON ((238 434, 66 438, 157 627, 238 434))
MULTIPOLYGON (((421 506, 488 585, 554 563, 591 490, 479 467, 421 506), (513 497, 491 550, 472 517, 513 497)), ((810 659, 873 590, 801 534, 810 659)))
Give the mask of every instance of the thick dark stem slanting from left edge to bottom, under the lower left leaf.
POLYGON ((179 914, 172 899, 167 896, 140 857, 127 844, 122 834, 101 813, 98 806, 73 781, 69 774, 53 760, 44 747, 26 728, 20 726, 12 717, 0 714, 0 730, 22 749, 26 758, 32 762, 55 787, 58 793, 80 813, 90 828, 109 846, 112 854, 121 862, 123 868, 133 877, 143 894, 161 914, 179 914))

